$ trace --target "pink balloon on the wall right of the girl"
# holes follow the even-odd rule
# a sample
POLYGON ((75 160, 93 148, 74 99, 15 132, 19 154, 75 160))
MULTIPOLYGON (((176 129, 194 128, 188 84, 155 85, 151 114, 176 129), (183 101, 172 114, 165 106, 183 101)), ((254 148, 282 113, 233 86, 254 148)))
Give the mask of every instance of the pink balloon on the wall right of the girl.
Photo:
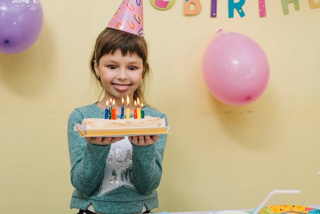
POLYGON ((209 91, 221 102, 246 105, 256 101, 269 81, 269 62, 253 39, 218 31, 204 52, 202 74, 209 91))

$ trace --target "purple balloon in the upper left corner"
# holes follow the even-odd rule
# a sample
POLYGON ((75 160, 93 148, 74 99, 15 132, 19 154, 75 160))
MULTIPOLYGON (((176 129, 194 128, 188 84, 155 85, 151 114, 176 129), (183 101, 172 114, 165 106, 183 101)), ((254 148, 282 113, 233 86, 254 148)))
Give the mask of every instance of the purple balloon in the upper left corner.
POLYGON ((42 26, 39 0, 0 0, 0 53, 14 54, 30 48, 42 26))

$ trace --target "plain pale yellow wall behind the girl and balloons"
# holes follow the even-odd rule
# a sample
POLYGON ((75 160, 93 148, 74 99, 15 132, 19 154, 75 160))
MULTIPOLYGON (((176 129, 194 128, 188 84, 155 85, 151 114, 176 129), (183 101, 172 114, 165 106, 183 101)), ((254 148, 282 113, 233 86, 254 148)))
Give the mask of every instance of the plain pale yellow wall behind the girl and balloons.
MULTIPOLYGON (((119 1, 41 0, 44 26, 28 50, 0 54, 0 207, 5 213, 75 213, 66 123, 77 106, 94 102, 88 58, 119 1), (3 210, 5 209, 5 210, 3 210), (22 211, 23 210, 23 211, 22 211)), ((245 16, 228 18, 227 1, 184 15, 144 1, 145 38, 153 81, 148 101, 168 115, 160 206, 154 211, 320 204, 320 8, 300 1, 284 15, 281 1, 246 1, 245 16), (265 51, 270 81, 246 106, 215 99, 202 78, 202 56, 216 30, 245 34, 265 51)), ((315 1, 317 2, 317 1, 315 1)))

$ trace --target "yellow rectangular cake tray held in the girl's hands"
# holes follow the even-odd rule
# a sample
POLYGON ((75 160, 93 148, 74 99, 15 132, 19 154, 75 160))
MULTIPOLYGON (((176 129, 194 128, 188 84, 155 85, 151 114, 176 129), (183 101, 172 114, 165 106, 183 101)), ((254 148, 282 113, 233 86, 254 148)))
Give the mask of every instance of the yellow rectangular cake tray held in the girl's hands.
POLYGON ((118 129, 87 129, 86 125, 76 124, 75 131, 78 131, 81 137, 125 137, 142 135, 168 134, 170 127, 132 127, 118 129))

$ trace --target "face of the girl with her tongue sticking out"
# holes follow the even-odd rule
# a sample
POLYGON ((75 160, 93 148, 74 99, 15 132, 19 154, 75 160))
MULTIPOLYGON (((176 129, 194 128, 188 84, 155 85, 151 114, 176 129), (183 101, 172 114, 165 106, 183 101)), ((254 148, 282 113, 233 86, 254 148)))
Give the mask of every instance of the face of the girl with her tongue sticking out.
POLYGON ((138 55, 122 56, 120 50, 114 55, 105 54, 95 63, 96 75, 107 97, 133 97, 134 91, 139 87, 143 73, 143 61, 138 55))

